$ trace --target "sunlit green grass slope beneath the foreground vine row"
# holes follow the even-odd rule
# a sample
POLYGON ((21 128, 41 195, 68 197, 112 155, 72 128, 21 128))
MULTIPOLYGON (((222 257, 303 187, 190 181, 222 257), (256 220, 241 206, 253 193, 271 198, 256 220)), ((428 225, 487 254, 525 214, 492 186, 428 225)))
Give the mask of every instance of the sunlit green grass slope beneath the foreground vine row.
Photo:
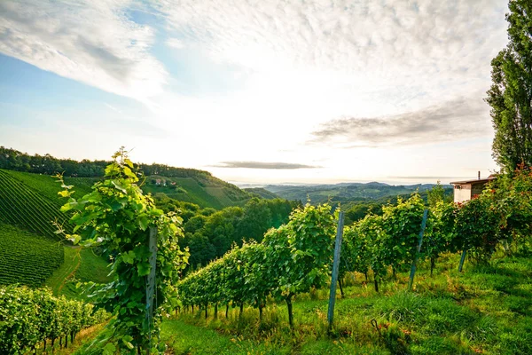
POLYGON ((229 319, 222 310, 219 319, 211 314, 207 320, 203 312, 186 312, 163 323, 163 337, 175 353, 191 354, 224 349, 234 354, 532 353, 532 260, 509 257, 483 268, 466 264, 464 273, 456 272, 457 264, 458 256, 446 256, 433 278, 421 264, 414 292, 405 291, 407 272, 388 280, 380 294, 356 275, 347 297, 336 303, 332 336, 327 335, 324 289, 299 297, 293 332, 286 307, 272 304, 262 325, 252 309, 240 320, 237 310, 229 319))

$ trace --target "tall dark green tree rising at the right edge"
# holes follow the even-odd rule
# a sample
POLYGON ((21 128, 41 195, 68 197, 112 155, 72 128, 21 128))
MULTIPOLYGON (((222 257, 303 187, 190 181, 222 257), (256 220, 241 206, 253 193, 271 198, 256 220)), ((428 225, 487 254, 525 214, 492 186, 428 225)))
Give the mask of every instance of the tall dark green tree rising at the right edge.
POLYGON ((495 129, 493 157, 508 172, 532 166, 532 3, 511 0, 506 48, 491 61, 487 92, 495 129))

